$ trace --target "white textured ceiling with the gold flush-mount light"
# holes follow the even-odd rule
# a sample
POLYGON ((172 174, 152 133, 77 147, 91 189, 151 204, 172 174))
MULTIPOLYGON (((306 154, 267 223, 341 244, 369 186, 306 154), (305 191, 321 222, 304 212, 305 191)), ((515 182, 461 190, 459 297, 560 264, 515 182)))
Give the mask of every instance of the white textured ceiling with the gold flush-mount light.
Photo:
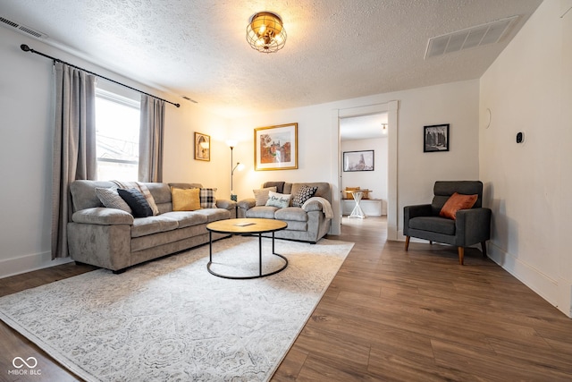
MULTIPOLYGON (((315 105, 479 78, 542 0, 2 0, 0 16, 114 72, 219 115, 315 105), (248 18, 281 15, 258 53, 248 18), (429 38, 518 15, 506 38, 425 60, 429 38)), ((32 48, 35 48, 31 46, 32 48)), ((38 49, 41 51, 41 49, 38 49)))

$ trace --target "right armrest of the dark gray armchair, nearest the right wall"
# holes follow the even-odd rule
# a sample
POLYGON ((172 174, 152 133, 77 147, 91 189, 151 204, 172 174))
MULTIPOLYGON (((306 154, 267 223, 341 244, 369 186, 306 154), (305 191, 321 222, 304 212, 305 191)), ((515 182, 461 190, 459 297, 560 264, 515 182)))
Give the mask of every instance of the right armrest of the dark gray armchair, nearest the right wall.
POLYGON ((469 246, 491 239, 491 208, 459 209, 455 220, 458 245, 469 246))

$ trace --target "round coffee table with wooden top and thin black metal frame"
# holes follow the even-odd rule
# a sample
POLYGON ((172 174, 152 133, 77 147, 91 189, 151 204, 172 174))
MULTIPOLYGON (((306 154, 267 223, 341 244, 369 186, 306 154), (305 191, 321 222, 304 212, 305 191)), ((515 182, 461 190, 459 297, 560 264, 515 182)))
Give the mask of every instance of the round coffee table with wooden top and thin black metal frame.
POLYGON ((214 276, 223 278, 231 278, 238 280, 246 280, 250 278, 259 278, 265 276, 272 276, 281 272, 288 267, 288 259, 274 251, 274 233, 283 230, 288 224, 282 220, 274 219, 258 219, 258 218, 240 218, 240 219, 227 219, 219 220, 206 225, 208 231, 208 264, 206 269, 214 276), (258 275, 257 276, 227 276, 214 272, 211 269, 213 263, 213 233, 231 233, 231 234, 258 234, 258 275), (262 233, 272 233, 272 254, 284 260, 284 265, 272 272, 262 273, 262 233))

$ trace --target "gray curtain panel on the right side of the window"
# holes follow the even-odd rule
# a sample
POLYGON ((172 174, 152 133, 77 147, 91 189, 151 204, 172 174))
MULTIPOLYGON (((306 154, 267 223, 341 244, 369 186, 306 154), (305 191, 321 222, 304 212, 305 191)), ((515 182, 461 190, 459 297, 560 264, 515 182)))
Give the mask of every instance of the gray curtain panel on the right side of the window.
POLYGON ((164 101, 141 95, 139 181, 163 182, 164 101))

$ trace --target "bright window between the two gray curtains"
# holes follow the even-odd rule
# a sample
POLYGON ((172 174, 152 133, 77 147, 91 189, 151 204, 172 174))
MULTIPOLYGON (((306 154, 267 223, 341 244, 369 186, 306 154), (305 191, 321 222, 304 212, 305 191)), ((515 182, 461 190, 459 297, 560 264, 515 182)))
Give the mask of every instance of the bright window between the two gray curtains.
POLYGON ((96 89, 97 180, 137 181, 140 104, 96 89))

